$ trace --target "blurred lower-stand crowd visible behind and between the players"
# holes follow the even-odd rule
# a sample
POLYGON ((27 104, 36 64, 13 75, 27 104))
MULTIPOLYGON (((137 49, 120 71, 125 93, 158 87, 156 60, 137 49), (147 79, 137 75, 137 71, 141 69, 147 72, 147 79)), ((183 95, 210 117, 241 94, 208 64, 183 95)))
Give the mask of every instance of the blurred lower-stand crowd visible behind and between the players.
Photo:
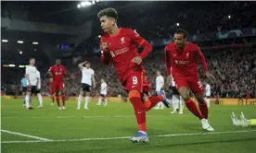
MULTIPOLYGON (((164 64, 163 49, 156 49, 144 61, 147 69, 147 76, 152 81, 152 88, 155 88, 155 78, 157 70, 160 70, 162 76, 166 78, 166 67, 164 64)), ((255 48, 238 48, 238 49, 222 49, 202 51, 208 62, 209 71, 216 77, 217 82, 211 83, 205 76, 201 75, 204 82, 211 85, 211 97, 222 98, 245 98, 250 95, 256 98, 256 49, 255 48)), ((79 62, 86 59, 80 58, 79 62)), ((109 96, 122 95, 124 92, 113 65, 103 65, 99 62, 99 58, 87 59, 91 63, 91 67, 95 70, 96 89, 93 89, 93 96, 99 94, 100 79, 104 78, 108 84, 109 96)), ((81 71, 78 63, 71 60, 63 60, 63 65, 67 68, 68 78, 65 81, 65 92, 68 96, 78 96, 81 88, 81 71)), ((45 68, 46 70, 47 68, 45 68)), ((199 72, 201 72, 201 69, 199 72)), ((40 69, 39 69, 40 70, 40 69)), ((49 95, 48 79, 44 77, 45 70, 41 71, 43 76, 42 93, 49 95)), ((25 70, 16 68, 6 68, 5 74, 9 82, 2 82, 2 89, 11 94, 20 94, 20 79, 25 70), (11 78, 11 79, 10 79, 11 78)), ((168 87, 166 87, 168 90, 168 87)), ((168 91, 167 91, 168 92, 168 91)))

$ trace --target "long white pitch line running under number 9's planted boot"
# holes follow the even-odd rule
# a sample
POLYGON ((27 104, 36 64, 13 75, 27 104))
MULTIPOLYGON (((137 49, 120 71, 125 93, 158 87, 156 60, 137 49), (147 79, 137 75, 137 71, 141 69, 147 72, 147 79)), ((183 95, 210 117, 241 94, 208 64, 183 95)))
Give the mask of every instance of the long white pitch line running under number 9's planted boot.
MULTIPOLYGON (((239 134, 239 133, 252 133, 256 130, 250 131, 224 131, 224 132, 212 132, 212 133, 190 133, 190 134, 170 134, 170 135, 151 135, 151 137, 173 137, 173 136, 189 136, 189 135, 220 135, 220 134, 239 134)), ((26 144, 26 143, 45 143, 45 142, 74 142, 74 141, 93 141, 93 140, 117 140, 128 139, 131 136, 122 137, 93 137, 93 138, 81 138, 81 139, 58 139, 58 140, 46 140, 46 141, 3 141, 2 144, 26 144)))

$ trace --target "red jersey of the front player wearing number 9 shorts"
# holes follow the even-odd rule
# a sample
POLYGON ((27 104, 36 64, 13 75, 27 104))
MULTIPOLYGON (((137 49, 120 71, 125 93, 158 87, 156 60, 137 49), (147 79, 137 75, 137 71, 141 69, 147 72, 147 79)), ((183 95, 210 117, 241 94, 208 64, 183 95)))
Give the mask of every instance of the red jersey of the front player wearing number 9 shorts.
POLYGON ((134 71, 143 70, 143 65, 135 65, 132 63, 132 59, 136 56, 141 56, 144 59, 152 50, 152 46, 133 29, 121 28, 114 36, 105 33, 101 37, 100 46, 104 42, 109 44, 109 53, 104 53, 101 49, 101 61, 106 65, 109 65, 111 61, 122 82, 134 71), (144 47, 142 53, 138 53, 137 45, 144 47))

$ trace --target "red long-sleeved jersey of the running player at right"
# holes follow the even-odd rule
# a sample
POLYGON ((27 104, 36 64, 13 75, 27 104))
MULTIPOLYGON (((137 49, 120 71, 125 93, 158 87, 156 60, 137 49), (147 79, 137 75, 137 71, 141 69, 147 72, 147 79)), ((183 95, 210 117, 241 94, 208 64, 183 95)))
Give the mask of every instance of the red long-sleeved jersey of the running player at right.
POLYGON ((198 76, 198 60, 206 73, 207 64, 197 44, 186 42, 183 51, 180 51, 174 42, 165 47, 165 64, 169 75, 172 73, 173 76, 198 76))

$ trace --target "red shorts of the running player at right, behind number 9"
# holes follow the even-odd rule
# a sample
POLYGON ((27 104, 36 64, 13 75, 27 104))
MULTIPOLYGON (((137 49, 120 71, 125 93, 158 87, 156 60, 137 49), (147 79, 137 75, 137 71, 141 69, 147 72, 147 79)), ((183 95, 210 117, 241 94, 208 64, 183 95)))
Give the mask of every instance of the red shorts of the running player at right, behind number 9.
POLYGON ((173 76, 176 88, 187 87, 193 93, 198 94, 204 92, 204 88, 198 76, 173 76))

